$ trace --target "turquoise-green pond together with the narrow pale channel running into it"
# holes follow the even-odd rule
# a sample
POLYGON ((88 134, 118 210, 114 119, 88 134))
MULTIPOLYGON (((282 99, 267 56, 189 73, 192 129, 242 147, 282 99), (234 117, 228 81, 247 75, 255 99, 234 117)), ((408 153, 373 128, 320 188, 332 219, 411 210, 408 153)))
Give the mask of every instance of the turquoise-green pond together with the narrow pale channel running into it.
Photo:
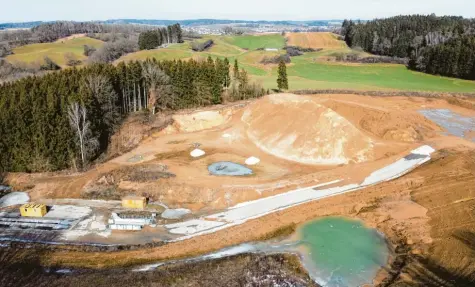
POLYGON ((140 266, 151 271, 173 263, 193 263, 243 253, 297 253, 312 279, 321 286, 353 287, 371 284, 389 258, 384 237, 360 221, 327 217, 308 222, 293 238, 277 243, 256 242, 203 256, 140 266))

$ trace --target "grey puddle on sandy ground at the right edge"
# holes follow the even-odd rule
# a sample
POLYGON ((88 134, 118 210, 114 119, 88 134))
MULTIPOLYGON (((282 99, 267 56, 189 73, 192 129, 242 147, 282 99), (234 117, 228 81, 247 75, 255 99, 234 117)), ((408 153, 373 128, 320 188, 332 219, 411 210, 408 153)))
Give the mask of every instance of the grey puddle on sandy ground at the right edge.
POLYGON ((448 109, 419 110, 429 120, 443 127, 448 134, 475 142, 475 117, 465 117, 448 109))

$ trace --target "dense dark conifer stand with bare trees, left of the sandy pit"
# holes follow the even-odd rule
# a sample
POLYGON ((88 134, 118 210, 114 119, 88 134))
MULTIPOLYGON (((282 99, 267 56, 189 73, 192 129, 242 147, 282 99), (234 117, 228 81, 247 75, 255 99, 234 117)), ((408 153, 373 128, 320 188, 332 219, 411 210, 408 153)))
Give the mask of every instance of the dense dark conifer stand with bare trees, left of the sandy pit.
POLYGON ((91 64, 0 85, 0 169, 82 169, 106 151, 131 112, 150 113, 259 97, 227 59, 91 64))

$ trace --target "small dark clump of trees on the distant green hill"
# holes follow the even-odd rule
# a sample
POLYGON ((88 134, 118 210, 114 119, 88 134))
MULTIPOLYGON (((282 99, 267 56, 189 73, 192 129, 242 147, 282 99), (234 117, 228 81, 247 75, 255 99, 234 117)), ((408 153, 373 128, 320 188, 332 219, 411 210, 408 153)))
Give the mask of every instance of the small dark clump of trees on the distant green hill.
POLYGON ((139 35, 140 50, 151 50, 163 44, 171 43, 183 43, 183 32, 180 24, 145 31, 139 35))

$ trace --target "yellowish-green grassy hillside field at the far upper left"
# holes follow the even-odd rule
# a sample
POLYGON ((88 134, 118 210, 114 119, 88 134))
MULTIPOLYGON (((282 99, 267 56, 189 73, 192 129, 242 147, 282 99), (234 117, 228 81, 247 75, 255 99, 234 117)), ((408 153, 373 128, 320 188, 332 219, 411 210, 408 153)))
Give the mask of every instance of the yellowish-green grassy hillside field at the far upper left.
POLYGON ((44 57, 47 56, 58 65, 66 66, 65 55, 72 53, 76 59, 85 60, 84 45, 93 46, 96 49, 101 47, 104 43, 102 41, 92 39, 89 37, 80 37, 71 40, 64 40, 62 42, 31 44, 21 46, 13 49, 13 55, 7 57, 7 60, 15 63, 38 63, 44 62, 44 57))

